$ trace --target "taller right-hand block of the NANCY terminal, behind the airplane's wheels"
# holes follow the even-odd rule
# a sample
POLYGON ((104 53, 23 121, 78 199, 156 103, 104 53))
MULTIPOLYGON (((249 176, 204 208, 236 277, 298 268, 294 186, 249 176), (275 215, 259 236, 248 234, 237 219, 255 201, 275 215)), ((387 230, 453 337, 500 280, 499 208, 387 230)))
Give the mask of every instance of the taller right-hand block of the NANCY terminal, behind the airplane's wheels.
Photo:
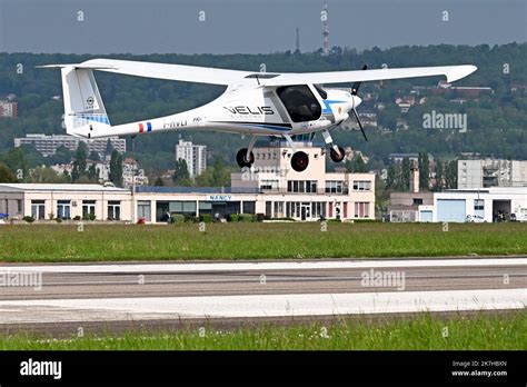
POLYGON ((325 218, 375 219, 375 173, 327 173, 326 150, 297 142, 309 155, 309 167, 290 168, 292 149, 277 141, 255 148, 255 165, 231 175, 232 189, 265 194, 271 218, 302 220, 325 218))

